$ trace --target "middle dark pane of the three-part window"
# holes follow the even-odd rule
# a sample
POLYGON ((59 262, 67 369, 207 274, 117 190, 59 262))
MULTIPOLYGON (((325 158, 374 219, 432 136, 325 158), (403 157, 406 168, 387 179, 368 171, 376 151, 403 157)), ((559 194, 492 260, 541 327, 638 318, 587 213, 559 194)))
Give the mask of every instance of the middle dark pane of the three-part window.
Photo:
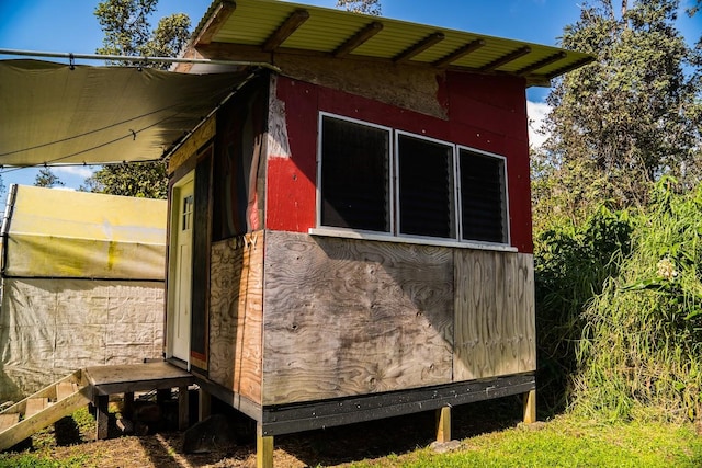
POLYGON ((453 146, 397 137, 399 232, 455 239, 453 146))

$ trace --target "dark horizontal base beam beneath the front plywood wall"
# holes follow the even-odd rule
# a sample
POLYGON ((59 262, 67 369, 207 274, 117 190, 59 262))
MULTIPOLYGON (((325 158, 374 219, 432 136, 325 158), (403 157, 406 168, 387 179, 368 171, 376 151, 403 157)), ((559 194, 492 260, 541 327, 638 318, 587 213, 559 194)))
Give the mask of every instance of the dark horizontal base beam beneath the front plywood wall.
POLYGON ((281 435, 437 410, 535 389, 535 375, 519 374, 363 397, 263 407, 260 423, 262 435, 281 435))

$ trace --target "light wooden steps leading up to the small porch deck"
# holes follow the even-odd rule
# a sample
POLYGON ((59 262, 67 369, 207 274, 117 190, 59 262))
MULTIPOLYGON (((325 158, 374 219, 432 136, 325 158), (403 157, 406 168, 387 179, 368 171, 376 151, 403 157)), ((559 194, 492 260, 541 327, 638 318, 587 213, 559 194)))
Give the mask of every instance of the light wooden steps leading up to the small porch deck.
POLYGON ((90 402, 90 392, 83 372, 76 370, 0 412, 0 450, 86 406, 90 402))

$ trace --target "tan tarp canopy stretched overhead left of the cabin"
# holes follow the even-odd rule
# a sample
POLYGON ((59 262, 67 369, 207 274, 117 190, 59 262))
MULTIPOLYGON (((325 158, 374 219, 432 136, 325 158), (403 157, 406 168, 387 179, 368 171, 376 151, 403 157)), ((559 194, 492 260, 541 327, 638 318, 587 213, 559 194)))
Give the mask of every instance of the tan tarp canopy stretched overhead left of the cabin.
POLYGON ((158 160, 248 76, 0 61, 0 164, 158 160))

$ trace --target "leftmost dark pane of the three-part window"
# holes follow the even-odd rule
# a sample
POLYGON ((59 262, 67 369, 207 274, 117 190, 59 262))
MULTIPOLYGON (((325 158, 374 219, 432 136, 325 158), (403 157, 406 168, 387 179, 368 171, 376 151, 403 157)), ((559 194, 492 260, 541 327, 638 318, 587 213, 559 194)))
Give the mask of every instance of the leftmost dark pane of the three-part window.
POLYGON ((321 121, 321 225, 389 232, 389 132, 321 121))

